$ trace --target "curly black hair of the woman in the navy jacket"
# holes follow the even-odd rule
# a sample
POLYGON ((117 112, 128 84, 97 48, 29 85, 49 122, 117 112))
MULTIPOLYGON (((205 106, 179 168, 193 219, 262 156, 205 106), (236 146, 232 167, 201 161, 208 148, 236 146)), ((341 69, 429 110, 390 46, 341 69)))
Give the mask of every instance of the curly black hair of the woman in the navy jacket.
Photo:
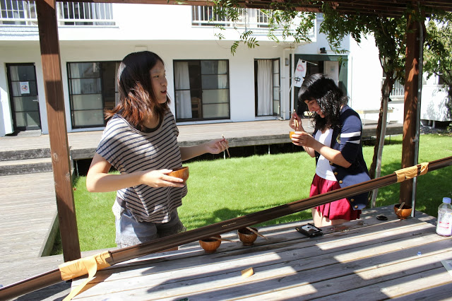
POLYGON ((314 129, 333 128, 340 125, 340 107, 348 102, 347 96, 331 78, 315 73, 304 79, 299 89, 298 100, 317 100, 325 118, 314 113, 312 124, 314 129))

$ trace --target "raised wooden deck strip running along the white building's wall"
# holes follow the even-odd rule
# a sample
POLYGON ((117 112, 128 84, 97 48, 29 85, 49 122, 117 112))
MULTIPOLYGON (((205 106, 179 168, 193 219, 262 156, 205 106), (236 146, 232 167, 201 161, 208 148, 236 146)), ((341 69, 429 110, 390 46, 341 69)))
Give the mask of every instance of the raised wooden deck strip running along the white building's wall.
MULTIPOLYGON (((309 119, 302 119, 304 129, 312 132, 309 119)), ((221 138, 230 141, 230 147, 258 146, 290 143, 288 120, 266 120, 256 122, 227 122, 217 124, 179 125, 179 145, 192 146, 203 141, 221 138)), ((375 136, 376 122, 367 121, 363 126, 363 137, 375 136)), ((403 124, 388 124, 387 135, 402 134, 403 124)), ((93 158, 102 131, 68 133, 71 158, 73 160, 93 158)), ((0 137, 0 152, 50 148, 49 135, 0 137)))

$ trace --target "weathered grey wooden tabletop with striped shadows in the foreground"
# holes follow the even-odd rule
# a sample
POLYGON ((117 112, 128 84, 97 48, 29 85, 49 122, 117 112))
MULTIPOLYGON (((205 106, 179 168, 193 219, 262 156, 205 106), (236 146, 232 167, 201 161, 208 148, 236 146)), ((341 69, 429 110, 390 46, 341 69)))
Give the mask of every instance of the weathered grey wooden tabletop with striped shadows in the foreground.
POLYGON ((97 271, 74 300, 450 300, 452 275, 441 261, 452 259, 452 239, 417 216, 369 209, 316 238, 295 231, 307 221, 275 225, 251 247, 230 232, 222 237, 232 242, 213 254, 193 243, 97 271), (243 278, 250 267, 254 275, 243 278))

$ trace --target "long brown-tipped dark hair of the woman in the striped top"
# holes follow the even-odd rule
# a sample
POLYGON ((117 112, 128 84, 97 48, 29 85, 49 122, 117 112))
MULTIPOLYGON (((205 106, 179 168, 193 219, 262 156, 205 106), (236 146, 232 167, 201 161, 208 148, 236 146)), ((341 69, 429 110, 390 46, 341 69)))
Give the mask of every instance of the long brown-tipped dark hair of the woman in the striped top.
POLYGON ((154 52, 132 52, 126 55, 119 64, 118 91, 119 103, 113 110, 105 110, 105 117, 120 114, 136 129, 143 131, 145 117, 158 116, 163 119, 170 102, 159 104, 155 98, 155 91, 150 83, 150 69, 157 61, 163 60, 154 52))

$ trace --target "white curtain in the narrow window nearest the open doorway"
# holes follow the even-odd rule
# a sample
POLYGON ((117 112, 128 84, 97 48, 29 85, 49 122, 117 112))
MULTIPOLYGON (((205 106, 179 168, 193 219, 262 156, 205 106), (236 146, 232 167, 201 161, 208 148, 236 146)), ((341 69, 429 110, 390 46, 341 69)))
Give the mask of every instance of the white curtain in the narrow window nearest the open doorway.
POLYGON ((257 61, 257 114, 266 116, 273 114, 273 77, 271 59, 257 61))

